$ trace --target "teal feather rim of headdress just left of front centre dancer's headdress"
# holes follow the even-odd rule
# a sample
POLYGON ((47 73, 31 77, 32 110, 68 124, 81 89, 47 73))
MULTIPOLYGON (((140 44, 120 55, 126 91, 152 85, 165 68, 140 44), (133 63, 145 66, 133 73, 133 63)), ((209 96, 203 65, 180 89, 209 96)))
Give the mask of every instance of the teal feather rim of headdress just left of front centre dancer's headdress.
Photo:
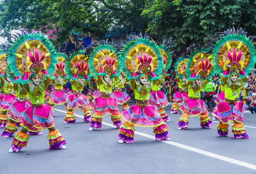
MULTIPOLYGON (((90 58, 89 58, 89 69, 90 69, 90 73, 93 75, 96 75, 96 76, 102 75, 102 73, 98 73, 96 71, 96 69, 93 66, 93 60, 94 60, 95 55, 102 49, 108 49, 111 52, 113 52, 114 54, 116 54, 116 55, 118 54, 116 48, 111 45, 103 44, 103 45, 100 45, 100 46, 97 46, 96 48, 94 48, 92 53, 90 54, 90 58)), ((118 61, 118 60, 116 60, 116 61, 118 61)), ((122 66, 120 66, 120 61, 119 61, 119 66, 117 67, 117 71, 116 71, 116 74, 118 74, 118 76, 119 76, 121 70, 122 70, 122 66)))

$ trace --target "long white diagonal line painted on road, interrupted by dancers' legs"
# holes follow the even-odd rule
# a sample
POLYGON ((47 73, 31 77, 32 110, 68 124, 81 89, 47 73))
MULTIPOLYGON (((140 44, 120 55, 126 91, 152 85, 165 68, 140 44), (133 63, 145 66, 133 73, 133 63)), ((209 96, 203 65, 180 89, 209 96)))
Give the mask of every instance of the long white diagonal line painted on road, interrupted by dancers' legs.
MULTIPOLYGON (((63 113, 66 113, 66 111, 62 111, 60 109, 55 109, 55 111, 59 111, 59 112, 63 112, 63 113)), ((76 117, 80 117, 80 118, 84 118, 84 116, 82 115, 79 115, 79 114, 75 114, 76 117)), ((113 128, 115 128, 116 126, 110 124, 110 123, 105 123, 105 122, 102 122, 103 125, 106 125, 106 126, 111 126, 113 128)), ((247 126, 248 127, 248 126, 247 126)), ((147 138, 150 138, 150 139, 153 139, 155 140, 155 137, 152 136, 152 135, 149 135, 149 134, 145 134, 145 133, 142 133, 142 132, 138 132, 138 131, 135 131, 134 134, 138 134, 138 135, 141 135, 143 137, 147 137, 147 138)), ((203 154, 203 155, 206 155, 208 157, 213 157, 213 158, 216 158, 218 160, 222 160, 222 161, 226 161, 226 162, 229 162, 229 163, 233 163, 233 164, 236 164, 236 165, 241 165, 241 166, 244 166, 244 167, 247 167, 247 168, 251 168, 253 170, 256 170, 256 165, 253 165, 253 164, 250 164, 250 163, 245 163, 243 161, 239 161, 239 160, 235 160, 233 158, 229 158, 229 157, 224 157, 222 155, 218 155, 218 154, 214 154, 212 152, 209 152, 209 151, 204 151, 204 150, 201 150, 201 149, 198 149, 198 148, 193 148, 193 147, 190 147, 188 145, 184 145, 184 144, 180 144, 180 143, 176 143, 176 142, 173 142, 173 141, 161 141, 163 143, 166 143, 166 144, 169 144, 169 145, 174 145, 176 147, 179 147, 179 148, 183 148, 183 149, 186 149, 186 150, 189 150, 189 151, 193 151, 193 152, 196 152, 198 154, 203 154)))

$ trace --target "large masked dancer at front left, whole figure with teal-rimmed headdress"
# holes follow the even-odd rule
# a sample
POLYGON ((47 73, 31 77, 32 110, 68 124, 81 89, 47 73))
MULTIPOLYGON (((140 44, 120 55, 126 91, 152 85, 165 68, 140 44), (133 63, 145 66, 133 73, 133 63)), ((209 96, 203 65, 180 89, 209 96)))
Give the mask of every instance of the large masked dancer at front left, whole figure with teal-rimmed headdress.
POLYGON ((18 152, 26 147, 28 131, 49 130, 49 149, 65 149, 64 138, 54 125, 52 107, 44 104, 45 89, 51 83, 55 71, 57 53, 52 43, 43 34, 23 34, 9 48, 8 64, 17 83, 24 85, 31 106, 23 112, 20 123, 23 128, 15 135, 9 152, 18 152), (46 66, 48 65, 48 66, 46 66))

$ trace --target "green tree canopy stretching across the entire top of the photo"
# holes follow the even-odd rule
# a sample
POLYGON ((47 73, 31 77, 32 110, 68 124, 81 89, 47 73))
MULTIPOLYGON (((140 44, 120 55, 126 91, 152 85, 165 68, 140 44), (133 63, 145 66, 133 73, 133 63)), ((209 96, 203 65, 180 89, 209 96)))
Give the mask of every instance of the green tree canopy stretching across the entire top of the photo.
POLYGON ((254 0, 2 0, 0 28, 41 30, 55 27, 57 40, 70 31, 89 31, 104 39, 108 31, 148 32, 155 40, 172 38, 177 51, 230 26, 256 34, 254 0), (108 8, 112 11, 102 11, 108 8))

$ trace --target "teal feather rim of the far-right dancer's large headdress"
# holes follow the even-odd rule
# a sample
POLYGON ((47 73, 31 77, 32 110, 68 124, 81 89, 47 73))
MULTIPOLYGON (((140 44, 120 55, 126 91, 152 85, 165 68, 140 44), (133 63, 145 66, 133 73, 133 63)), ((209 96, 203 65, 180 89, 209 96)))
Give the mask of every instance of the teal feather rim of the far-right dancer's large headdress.
POLYGON ((248 62, 247 67, 244 69, 245 74, 241 75, 239 74, 240 78, 244 78, 246 77, 251 70, 253 69, 255 63, 256 63, 256 50, 255 50, 255 46, 253 45, 253 43, 245 36, 239 35, 239 34, 234 34, 234 35, 227 35, 225 37, 223 37, 221 40, 219 40, 217 43, 215 43, 214 48, 212 49, 212 65, 215 69, 215 72, 218 74, 221 74, 224 77, 229 77, 230 75, 224 75, 223 71, 221 69, 221 67, 218 65, 217 62, 217 57, 218 57, 218 51, 221 48, 221 46, 223 46, 225 43, 227 43, 227 41, 241 41, 242 43, 244 43, 250 50, 250 61, 248 62))

